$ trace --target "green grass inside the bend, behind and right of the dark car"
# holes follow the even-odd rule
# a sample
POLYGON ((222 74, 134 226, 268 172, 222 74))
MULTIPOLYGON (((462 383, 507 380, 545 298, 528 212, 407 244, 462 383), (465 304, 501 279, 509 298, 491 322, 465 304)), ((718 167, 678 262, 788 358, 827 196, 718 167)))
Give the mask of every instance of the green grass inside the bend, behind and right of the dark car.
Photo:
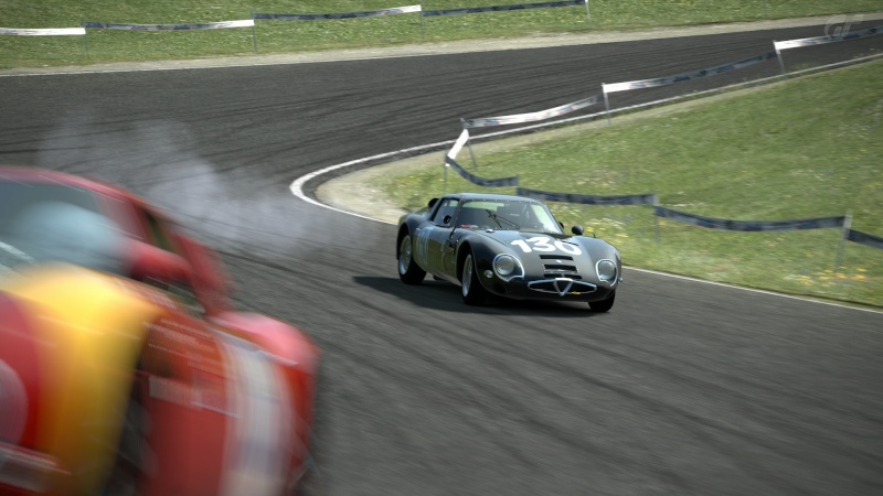
MULTIPOLYGON (((883 62, 875 62, 623 117, 611 127, 549 131, 506 151, 476 147, 479 168, 472 172, 518 175, 523 187, 552 192, 656 192, 661 205, 717 218, 784 220, 851 211, 853 228, 882 236, 881 80, 883 62)), ((470 169, 468 153, 461 155, 470 169)), ((445 187, 440 164, 372 186, 408 209, 445 192, 482 191, 453 172, 445 187)), ((565 224, 582 224, 616 245, 626 265, 883 306, 883 250, 848 242, 844 263, 836 267, 839 229, 732 233, 660 219, 657 244, 651 207, 551 206, 565 224)))

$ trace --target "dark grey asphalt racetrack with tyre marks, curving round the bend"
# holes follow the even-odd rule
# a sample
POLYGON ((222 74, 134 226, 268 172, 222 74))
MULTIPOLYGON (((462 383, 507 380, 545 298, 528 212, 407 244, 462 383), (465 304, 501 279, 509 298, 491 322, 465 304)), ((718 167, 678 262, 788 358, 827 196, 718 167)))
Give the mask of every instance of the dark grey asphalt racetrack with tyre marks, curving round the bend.
MULTIPOLYGON (((454 139, 464 117, 551 108, 603 82, 822 34, 0 77, 0 161, 97 176, 167 207, 223 251, 238 305, 316 339, 325 362, 308 495, 881 494, 882 313, 635 270, 607 314, 468 308, 453 285, 398 281, 394 226, 288 188, 319 169, 454 139)), ((882 44, 786 60, 799 67, 882 44)), ((778 71, 769 61, 613 103, 778 71)))

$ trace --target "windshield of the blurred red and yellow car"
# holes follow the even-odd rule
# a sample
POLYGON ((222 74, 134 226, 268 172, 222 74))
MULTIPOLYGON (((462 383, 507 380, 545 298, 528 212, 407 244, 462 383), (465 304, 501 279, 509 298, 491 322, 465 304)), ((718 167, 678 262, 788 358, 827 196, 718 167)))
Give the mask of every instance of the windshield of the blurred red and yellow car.
POLYGON ((123 271, 123 235, 86 190, 0 183, 0 278, 52 261, 123 271))

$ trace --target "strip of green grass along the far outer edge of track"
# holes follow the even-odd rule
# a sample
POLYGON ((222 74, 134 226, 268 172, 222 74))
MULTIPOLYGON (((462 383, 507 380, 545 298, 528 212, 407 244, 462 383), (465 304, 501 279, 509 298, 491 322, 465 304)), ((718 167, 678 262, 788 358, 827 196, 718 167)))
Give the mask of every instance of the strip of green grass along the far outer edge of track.
MULTIPOLYGON (((533 0, 248 1, 4 0, 0 26, 75 28, 84 21, 175 24, 251 19, 254 12, 331 13, 421 3, 424 10, 532 3, 533 0)), ((880 0, 591 0, 583 7, 443 18, 403 14, 339 21, 257 21, 251 28, 191 32, 89 30, 87 36, 0 36, 0 68, 313 52, 457 40, 828 15, 880 10, 880 0), (254 37, 253 37, 254 33, 254 37), (88 45, 88 50, 86 48, 88 45)))

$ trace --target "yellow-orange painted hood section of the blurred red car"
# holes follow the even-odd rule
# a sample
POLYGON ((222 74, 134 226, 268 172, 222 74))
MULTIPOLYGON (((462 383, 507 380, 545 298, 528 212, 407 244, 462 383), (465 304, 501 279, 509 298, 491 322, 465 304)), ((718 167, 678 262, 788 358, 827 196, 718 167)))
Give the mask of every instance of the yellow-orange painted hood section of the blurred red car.
POLYGON ((15 349, 2 343, 28 348, 36 362, 18 371, 35 391, 19 409, 30 434, 7 441, 77 472, 79 489, 94 487, 113 461, 146 324, 162 312, 160 293, 70 265, 30 269, 0 291, 11 303, 4 312, 14 306, 20 315, 0 325, 0 364, 15 363, 15 349))

